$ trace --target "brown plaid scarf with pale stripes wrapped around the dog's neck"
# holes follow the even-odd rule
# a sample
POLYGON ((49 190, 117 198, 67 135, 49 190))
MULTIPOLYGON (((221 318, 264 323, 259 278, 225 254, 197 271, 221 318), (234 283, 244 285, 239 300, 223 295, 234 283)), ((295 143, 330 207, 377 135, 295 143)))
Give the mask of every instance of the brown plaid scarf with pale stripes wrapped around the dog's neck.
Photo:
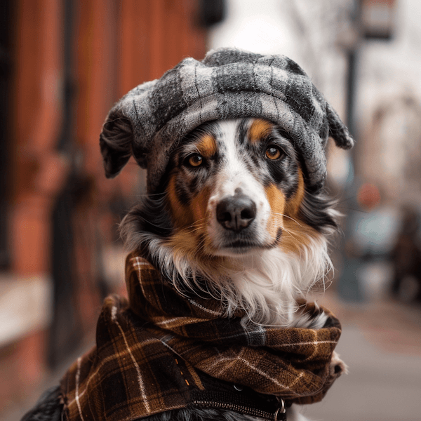
POLYGON ((131 421, 189 406, 274 420, 276 396, 320 401, 339 375, 328 369, 340 337, 329 312, 319 330, 245 329, 240 317, 220 316, 218 301, 178 293, 134 253, 126 283, 129 302, 105 300, 96 347, 62 379, 67 420, 131 421))

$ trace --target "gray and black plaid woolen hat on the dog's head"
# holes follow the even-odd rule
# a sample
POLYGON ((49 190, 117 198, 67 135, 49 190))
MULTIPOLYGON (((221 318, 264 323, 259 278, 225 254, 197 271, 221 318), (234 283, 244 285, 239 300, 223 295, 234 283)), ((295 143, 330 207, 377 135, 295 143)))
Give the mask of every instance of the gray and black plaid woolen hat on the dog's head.
POLYGON ((314 190, 326 178, 328 137, 344 149, 354 143, 293 60, 222 48, 202 61, 182 60, 161 79, 142 83, 116 102, 100 135, 107 178, 133 154, 147 168, 148 192, 155 192, 185 135, 206 121, 238 117, 267 119, 283 128, 305 163, 307 187, 314 190))

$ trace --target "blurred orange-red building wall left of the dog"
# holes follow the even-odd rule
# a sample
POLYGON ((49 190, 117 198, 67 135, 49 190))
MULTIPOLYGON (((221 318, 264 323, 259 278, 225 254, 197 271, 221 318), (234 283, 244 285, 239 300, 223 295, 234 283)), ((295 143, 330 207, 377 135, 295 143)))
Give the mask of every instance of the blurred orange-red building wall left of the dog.
MULTIPOLYGON (((95 272, 95 232, 115 240, 115 219, 107 203, 131 197, 140 171, 134 165, 114 180, 103 175, 98 139, 113 102, 143 81, 161 76, 187 55, 202 58, 206 33, 196 24, 196 0, 77 0, 74 6, 74 138, 78 171, 88 192, 76 206, 72 229, 79 281, 76 300, 83 331, 91 335, 98 291, 87 280, 95 272)), ((15 2, 10 203, 11 274, 51 274, 51 212, 70 166, 56 150, 63 119, 64 2, 15 2)), ((123 274, 122 274, 123 276, 123 274)), ((74 298, 72 298, 74 299, 74 298)), ((0 326, 1 328, 1 326, 0 326)), ((44 330, 0 349, 0 410, 22 399, 46 373, 44 330), (16 375, 11 375, 11 370, 16 375)))

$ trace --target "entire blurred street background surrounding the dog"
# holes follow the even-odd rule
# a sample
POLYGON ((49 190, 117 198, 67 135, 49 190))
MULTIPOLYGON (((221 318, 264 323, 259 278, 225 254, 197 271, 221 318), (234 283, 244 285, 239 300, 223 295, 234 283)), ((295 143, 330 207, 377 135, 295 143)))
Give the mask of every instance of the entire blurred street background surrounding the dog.
POLYGON ((125 294, 117 224, 145 174, 105 179, 107 112, 221 46, 288 55, 356 138, 329 148, 345 218, 315 295, 342 321, 349 374, 305 414, 421 419, 419 0, 0 0, 0 421, 58 382, 103 298, 125 294))

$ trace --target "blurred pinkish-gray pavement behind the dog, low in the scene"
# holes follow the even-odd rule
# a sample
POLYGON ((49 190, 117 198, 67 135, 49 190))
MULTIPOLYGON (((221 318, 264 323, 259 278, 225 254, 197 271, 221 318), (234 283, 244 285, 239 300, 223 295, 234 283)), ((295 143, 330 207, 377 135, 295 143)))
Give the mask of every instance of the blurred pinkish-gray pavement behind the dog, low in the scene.
MULTIPOLYGON (((313 421, 420 421, 421 307, 391 301, 350 305, 332 292, 317 301, 342 322, 336 350, 349 374, 302 413, 313 421)), ((20 420, 36 396, 0 413, 0 421, 20 420)))

